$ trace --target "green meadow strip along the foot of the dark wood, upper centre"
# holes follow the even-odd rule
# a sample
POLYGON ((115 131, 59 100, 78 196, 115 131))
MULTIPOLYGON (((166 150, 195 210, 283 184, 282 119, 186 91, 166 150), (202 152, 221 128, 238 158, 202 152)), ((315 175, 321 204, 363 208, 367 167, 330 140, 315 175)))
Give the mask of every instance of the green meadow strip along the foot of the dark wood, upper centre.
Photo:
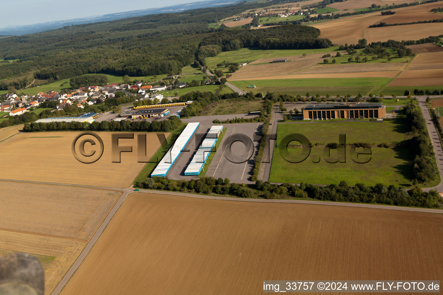
POLYGON ((331 53, 338 50, 338 46, 331 46, 322 49, 300 49, 300 50, 261 50, 254 48, 241 48, 235 51, 224 51, 214 57, 206 57, 206 65, 208 68, 214 68, 218 63, 223 61, 230 62, 247 62, 256 61, 260 58, 277 58, 285 56, 296 56, 303 53, 331 53))

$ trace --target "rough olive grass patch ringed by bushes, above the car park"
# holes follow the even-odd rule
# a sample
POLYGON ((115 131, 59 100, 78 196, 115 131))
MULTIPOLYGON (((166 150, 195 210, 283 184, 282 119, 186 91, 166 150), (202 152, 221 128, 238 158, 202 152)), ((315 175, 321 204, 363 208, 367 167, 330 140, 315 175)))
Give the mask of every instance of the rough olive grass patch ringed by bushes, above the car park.
POLYGON ((260 111, 263 107, 263 99, 255 100, 229 99, 220 100, 214 106, 204 108, 201 115, 228 115, 243 114, 250 111, 260 111))

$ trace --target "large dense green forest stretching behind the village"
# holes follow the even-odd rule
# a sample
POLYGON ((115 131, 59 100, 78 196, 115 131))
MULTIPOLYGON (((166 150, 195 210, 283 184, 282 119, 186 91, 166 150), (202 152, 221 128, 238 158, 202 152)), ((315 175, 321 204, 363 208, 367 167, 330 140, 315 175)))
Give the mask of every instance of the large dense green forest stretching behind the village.
MULTIPOLYGON (((268 4, 281 2, 272 0, 268 4)), ((233 40, 251 40, 255 34, 257 38, 272 38, 276 31, 267 36, 263 32, 267 30, 246 34, 243 32, 249 30, 245 28, 209 28, 209 23, 259 7, 260 3, 240 2, 225 7, 146 15, 2 38, 0 60, 17 61, 1 64, 0 90, 6 90, 8 86, 23 88, 33 78, 52 81, 86 73, 122 76, 177 73, 183 66, 194 62, 199 43, 220 34, 219 31, 232 31, 222 37, 233 40)), ((310 35, 310 39, 313 38, 310 35)))

